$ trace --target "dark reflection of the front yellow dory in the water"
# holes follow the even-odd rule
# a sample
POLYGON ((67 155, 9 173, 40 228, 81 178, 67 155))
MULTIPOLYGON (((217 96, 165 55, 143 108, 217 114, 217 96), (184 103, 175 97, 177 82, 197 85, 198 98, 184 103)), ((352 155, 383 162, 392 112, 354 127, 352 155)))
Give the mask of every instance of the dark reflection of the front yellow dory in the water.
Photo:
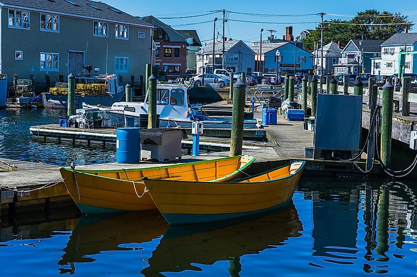
POLYGON ((219 224, 227 223, 211 224, 212 230, 207 231, 207 225, 199 229, 170 227, 142 273, 155 276, 163 272, 201 271, 195 264, 229 261, 229 275, 239 276, 241 256, 284 245, 288 238, 300 237, 303 230, 295 207, 230 226, 219 224))

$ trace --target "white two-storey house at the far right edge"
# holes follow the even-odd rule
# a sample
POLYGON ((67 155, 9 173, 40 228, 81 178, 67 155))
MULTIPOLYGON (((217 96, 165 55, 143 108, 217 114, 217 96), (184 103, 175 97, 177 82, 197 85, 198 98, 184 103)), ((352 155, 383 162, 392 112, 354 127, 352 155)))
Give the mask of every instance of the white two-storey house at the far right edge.
MULTIPOLYGON (((381 44, 380 58, 372 59, 371 73, 379 76, 398 74, 400 50, 417 50, 417 33, 396 33, 381 44)), ((417 73, 417 55, 405 57, 403 73, 417 73)))

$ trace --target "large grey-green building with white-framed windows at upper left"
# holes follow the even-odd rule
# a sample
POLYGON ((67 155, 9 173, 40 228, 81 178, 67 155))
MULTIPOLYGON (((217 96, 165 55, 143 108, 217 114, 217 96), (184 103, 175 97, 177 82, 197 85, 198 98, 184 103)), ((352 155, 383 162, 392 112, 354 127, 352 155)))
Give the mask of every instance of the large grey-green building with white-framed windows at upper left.
POLYGON ((91 65, 130 81, 152 61, 152 25, 106 3, 0 0, 0 6, 1 73, 32 74, 39 85, 45 75, 52 82, 87 76, 84 66, 91 65))

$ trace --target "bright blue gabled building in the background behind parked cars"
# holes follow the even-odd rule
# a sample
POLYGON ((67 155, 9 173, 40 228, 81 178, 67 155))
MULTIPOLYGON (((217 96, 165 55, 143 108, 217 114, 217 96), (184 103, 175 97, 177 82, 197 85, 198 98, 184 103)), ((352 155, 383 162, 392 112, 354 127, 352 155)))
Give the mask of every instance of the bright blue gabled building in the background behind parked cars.
POLYGON ((313 54, 301 48, 302 44, 295 45, 295 41, 263 42, 261 46, 256 43, 252 46, 255 53, 261 53, 261 61, 264 63, 264 72, 277 72, 279 74, 303 75, 313 70, 313 54), (296 51, 297 49, 297 51, 296 51), (279 51, 277 62, 276 51, 279 51), (297 53, 296 53, 297 52, 297 53))

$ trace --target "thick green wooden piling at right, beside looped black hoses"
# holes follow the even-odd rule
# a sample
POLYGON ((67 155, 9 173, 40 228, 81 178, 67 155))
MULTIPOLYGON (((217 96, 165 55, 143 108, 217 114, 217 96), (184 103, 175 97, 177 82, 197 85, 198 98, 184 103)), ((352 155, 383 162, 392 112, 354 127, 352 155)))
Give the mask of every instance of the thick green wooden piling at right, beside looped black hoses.
POLYGON ((381 160, 386 166, 391 163, 392 100, 394 87, 390 82, 382 87, 381 160))

